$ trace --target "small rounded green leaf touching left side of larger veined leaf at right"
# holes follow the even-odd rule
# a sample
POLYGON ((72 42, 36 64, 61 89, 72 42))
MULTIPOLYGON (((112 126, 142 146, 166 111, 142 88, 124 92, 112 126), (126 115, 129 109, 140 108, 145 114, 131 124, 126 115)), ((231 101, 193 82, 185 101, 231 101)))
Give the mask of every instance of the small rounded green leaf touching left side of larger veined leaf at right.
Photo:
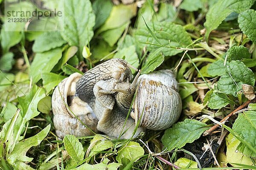
POLYGON ((212 62, 208 69, 207 69, 207 73, 210 75, 210 76, 221 76, 225 73, 225 65, 224 65, 224 61, 219 59, 215 62, 212 62))

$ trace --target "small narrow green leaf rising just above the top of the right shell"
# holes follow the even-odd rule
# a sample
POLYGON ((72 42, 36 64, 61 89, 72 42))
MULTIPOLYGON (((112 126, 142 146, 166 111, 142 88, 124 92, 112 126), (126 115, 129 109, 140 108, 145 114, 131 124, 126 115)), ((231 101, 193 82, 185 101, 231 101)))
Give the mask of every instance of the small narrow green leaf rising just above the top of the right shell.
POLYGON ((158 48, 156 51, 151 52, 146 58, 145 63, 141 68, 141 74, 147 74, 154 71, 164 61, 164 55, 162 54, 163 48, 158 48))

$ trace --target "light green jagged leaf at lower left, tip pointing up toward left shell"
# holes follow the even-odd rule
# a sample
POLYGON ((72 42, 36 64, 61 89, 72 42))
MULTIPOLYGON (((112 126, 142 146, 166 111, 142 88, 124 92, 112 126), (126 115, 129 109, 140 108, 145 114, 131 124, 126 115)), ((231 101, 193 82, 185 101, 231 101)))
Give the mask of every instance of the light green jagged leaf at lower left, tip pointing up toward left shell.
POLYGON ((47 125, 41 132, 36 134, 35 136, 32 136, 28 139, 26 139, 23 142, 19 142, 15 145, 13 151, 7 158, 9 163, 14 164, 16 161, 23 161, 23 162, 30 162, 34 158, 29 158, 26 156, 26 152, 29 150, 30 147, 36 146, 41 143, 41 141, 47 136, 49 133, 49 130, 51 128, 51 125, 47 125))

